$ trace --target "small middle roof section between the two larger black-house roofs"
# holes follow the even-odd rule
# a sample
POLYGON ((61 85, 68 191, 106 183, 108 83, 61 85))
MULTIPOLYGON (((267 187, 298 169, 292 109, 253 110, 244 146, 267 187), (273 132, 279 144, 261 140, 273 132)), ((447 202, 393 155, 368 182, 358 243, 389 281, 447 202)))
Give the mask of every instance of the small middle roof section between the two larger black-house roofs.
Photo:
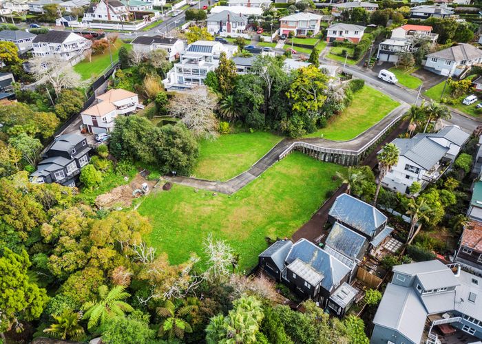
POLYGON ((346 257, 355 259, 364 256, 366 248, 368 248, 368 241, 363 235, 359 235, 338 222, 333 224, 325 244, 346 257))

